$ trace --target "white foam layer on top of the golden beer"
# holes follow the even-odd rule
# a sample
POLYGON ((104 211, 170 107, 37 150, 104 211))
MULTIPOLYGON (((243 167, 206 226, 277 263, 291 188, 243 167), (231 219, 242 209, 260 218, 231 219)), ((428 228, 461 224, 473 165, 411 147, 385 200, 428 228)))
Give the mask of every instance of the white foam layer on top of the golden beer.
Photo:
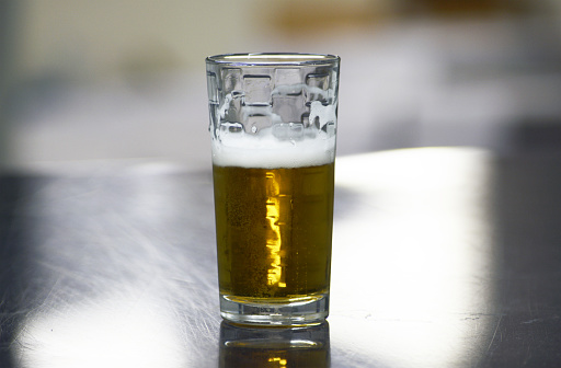
POLYGON ((335 137, 323 131, 320 137, 296 141, 248 134, 221 142, 217 140, 213 139, 213 163, 219 166, 302 168, 331 163, 335 159, 335 137))

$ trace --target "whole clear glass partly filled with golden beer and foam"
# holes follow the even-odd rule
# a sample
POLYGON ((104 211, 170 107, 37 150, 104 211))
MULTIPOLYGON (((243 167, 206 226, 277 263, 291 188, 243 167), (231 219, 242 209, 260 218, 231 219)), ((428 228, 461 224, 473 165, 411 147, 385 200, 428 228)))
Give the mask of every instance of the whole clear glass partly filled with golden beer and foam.
POLYGON ((340 58, 206 59, 220 312, 307 325, 329 313, 340 58))

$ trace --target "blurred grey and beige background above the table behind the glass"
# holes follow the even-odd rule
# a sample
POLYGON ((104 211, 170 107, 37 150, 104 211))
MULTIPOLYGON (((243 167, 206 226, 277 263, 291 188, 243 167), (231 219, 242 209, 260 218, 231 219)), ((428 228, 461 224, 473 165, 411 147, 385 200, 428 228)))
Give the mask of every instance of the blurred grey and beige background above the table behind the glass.
POLYGON ((561 1, 0 0, 3 168, 210 162, 204 59, 342 57, 339 154, 561 149, 561 1))

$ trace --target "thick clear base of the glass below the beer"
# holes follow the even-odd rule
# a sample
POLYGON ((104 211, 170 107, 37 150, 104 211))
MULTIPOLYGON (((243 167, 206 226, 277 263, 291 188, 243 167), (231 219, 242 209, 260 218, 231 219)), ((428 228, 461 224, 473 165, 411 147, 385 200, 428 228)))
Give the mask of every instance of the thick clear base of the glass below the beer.
POLYGON ((262 326, 301 326, 325 321, 329 295, 300 298, 244 298, 220 295, 220 314, 227 321, 262 326))

